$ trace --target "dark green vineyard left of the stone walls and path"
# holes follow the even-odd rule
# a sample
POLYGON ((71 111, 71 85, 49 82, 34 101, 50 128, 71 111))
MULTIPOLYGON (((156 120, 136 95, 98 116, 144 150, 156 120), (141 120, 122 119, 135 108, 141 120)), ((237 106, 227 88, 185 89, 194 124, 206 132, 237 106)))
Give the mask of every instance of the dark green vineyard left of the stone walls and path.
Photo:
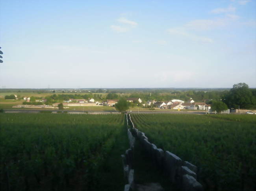
POLYGON ((115 145, 127 136, 122 115, 2 113, 0 122, 1 190, 100 189, 113 147, 123 187, 119 158, 128 142, 115 145))

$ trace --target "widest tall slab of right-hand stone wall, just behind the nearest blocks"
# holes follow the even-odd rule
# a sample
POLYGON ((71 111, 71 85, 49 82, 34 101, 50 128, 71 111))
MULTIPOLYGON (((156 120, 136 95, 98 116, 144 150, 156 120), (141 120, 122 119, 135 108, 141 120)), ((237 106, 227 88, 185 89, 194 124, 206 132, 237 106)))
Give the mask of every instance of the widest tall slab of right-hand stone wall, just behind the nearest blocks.
POLYGON ((178 168, 182 166, 182 160, 180 157, 174 155, 169 151, 165 151, 165 169, 170 175, 171 182, 174 183, 176 181, 178 168))

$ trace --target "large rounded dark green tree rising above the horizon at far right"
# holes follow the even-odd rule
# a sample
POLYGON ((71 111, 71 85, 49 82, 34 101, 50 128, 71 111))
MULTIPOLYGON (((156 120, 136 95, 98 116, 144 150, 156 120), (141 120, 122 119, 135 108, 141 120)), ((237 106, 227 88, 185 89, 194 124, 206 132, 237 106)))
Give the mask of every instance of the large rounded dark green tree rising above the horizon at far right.
POLYGON ((252 93, 254 91, 250 90, 247 84, 234 84, 230 92, 223 97, 223 100, 229 108, 256 108, 256 96, 252 93))

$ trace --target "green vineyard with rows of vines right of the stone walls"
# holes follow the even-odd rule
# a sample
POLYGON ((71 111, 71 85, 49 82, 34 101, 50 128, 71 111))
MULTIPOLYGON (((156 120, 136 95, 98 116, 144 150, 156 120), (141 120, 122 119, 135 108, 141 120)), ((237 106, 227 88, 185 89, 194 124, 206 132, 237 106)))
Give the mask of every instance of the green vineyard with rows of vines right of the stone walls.
POLYGON ((256 116, 133 114, 149 141, 198 166, 205 190, 255 190, 256 116))

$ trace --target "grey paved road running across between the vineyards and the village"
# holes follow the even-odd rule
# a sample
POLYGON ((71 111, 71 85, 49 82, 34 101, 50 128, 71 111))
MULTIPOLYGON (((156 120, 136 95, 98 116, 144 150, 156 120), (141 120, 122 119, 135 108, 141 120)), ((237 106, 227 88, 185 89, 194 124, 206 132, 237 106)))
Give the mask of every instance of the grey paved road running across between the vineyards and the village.
MULTIPOLYGON (((76 114, 108 114, 108 113, 116 113, 118 114, 118 111, 82 111, 82 110, 29 110, 29 109, 4 109, 5 113, 39 113, 40 111, 52 111, 53 113, 57 113, 58 111, 67 111, 67 113, 76 113, 76 114)), ((128 111, 128 113, 180 113, 180 114, 205 114, 205 112, 202 111, 128 111)))

